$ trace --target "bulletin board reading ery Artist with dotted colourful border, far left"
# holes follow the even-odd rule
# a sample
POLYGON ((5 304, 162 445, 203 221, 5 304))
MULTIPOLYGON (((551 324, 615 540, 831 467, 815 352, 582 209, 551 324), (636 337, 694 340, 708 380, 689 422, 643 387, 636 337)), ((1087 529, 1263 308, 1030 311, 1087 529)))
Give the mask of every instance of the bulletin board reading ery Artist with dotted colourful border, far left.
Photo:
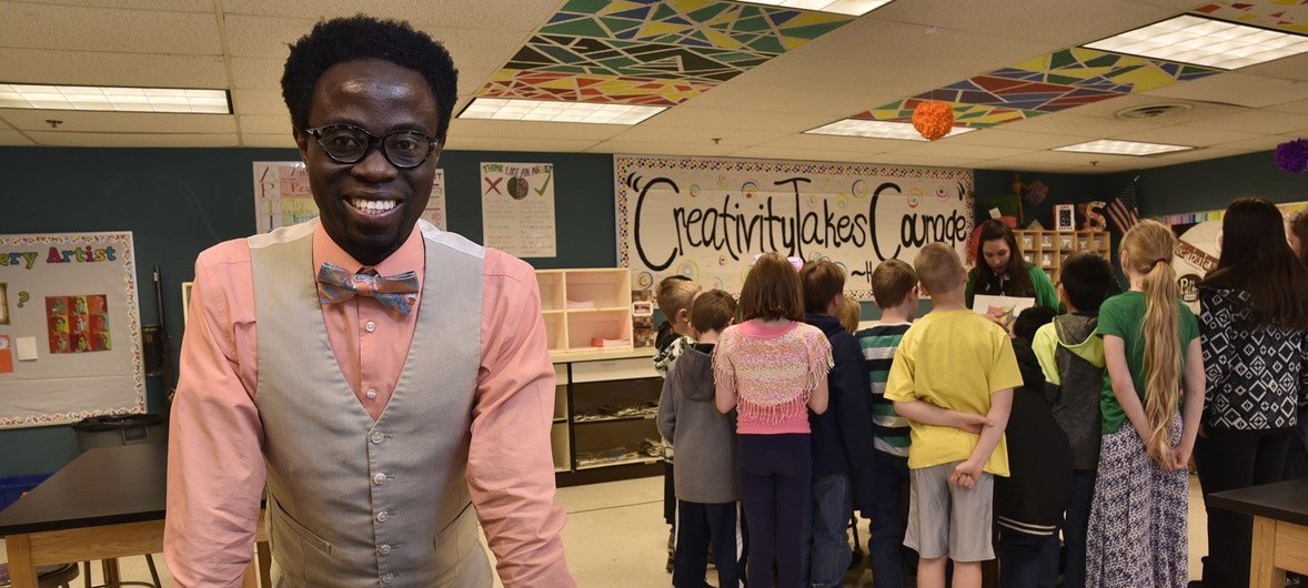
POLYGON ((131 233, 0 235, 0 429, 145 412, 131 233))

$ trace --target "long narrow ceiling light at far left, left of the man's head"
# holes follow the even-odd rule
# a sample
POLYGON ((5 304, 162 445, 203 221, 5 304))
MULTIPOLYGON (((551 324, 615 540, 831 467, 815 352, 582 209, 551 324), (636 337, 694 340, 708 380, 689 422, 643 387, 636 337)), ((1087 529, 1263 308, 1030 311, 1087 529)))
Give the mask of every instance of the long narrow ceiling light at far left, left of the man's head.
POLYGON ((0 108, 232 114, 228 90, 0 84, 0 108))

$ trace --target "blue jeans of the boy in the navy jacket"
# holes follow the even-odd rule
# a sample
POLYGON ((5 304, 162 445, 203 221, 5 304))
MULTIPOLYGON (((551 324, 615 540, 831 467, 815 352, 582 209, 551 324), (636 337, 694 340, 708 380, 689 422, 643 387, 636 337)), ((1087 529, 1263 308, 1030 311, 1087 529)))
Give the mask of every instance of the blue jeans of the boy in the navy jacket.
POLYGON ((800 567, 808 568, 810 587, 840 587, 853 561, 849 519, 854 512, 848 474, 814 478, 812 508, 804 516, 800 567))

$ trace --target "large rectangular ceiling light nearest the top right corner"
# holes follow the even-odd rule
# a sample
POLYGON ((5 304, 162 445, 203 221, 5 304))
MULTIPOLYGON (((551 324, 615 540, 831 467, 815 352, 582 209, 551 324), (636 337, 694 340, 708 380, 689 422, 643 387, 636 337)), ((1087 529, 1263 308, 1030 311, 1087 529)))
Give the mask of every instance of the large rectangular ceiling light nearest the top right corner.
POLYGON ((1308 51, 1308 37, 1182 14, 1086 47, 1239 69, 1308 51))

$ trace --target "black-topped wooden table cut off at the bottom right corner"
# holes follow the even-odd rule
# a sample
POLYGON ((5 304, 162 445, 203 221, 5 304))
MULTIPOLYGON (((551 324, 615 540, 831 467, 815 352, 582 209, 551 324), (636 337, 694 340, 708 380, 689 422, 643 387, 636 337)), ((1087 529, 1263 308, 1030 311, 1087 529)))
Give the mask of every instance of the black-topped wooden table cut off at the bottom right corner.
POLYGON ((1308 478, 1209 494, 1207 506, 1253 516, 1252 588, 1284 587, 1308 574, 1308 478))

